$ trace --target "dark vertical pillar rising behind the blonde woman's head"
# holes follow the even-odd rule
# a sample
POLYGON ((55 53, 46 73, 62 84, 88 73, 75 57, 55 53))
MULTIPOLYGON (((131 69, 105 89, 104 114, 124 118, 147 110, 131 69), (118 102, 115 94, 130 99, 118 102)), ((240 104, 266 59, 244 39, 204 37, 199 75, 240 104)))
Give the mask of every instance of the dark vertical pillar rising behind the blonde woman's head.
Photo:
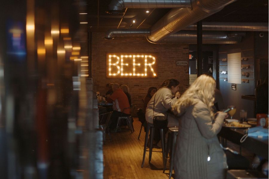
POLYGON ((202 21, 197 22, 197 77, 202 75, 202 21))

